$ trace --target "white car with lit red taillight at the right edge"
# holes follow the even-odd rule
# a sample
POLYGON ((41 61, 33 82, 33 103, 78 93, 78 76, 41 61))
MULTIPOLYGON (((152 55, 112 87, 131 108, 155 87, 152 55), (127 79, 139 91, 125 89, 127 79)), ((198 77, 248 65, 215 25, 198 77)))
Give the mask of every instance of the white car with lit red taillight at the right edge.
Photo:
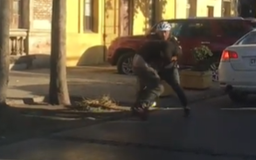
POLYGON ((256 94, 256 29, 223 50, 218 82, 234 102, 245 102, 249 94, 256 94))

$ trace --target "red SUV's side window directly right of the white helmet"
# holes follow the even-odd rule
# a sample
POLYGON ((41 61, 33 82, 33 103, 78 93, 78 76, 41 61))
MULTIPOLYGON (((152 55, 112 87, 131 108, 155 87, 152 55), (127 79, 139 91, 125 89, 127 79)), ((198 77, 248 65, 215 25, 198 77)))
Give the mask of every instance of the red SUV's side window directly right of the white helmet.
POLYGON ((208 22, 187 22, 184 23, 180 35, 183 37, 210 37, 211 24, 208 22))

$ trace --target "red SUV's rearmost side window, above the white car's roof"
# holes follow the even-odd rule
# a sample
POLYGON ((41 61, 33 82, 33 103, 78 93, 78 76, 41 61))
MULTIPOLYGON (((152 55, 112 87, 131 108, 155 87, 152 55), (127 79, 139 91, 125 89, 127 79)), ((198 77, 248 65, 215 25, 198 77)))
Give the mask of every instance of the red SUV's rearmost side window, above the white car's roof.
POLYGON ((248 31, 253 30, 253 27, 245 21, 219 21, 218 26, 224 37, 242 37, 248 31))

